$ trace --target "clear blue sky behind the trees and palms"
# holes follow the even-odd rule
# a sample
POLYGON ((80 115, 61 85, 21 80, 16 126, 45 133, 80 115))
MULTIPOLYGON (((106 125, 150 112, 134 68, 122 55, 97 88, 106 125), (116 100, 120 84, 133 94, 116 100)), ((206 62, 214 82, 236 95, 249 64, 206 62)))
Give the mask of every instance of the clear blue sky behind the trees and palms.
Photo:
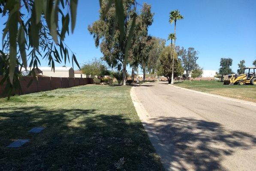
MULTIPOLYGON (((165 39, 174 29, 174 24, 168 22, 169 12, 178 9, 184 20, 177 22, 176 45, 198 50, 197 63, 205 70, 218 70, 221 57, 233 59, 233 71, 237 70, 240 60, 244 59, 246 66, 252 66, 256 59, 256 0, 136 1, 139 4, 151 4, 155 15, 149 34, 165 39)), ((65 42, 76 53, 80 64, 102 56, 87 30, 88 25, 99 18, 98 11, 99 0, 78 1, 75 32, 66 37, 65 42)), ((1 30, 3 23, 1 19, 1 30)), ((46 66, 47 63, 42 62, 42 65, 46 66)))

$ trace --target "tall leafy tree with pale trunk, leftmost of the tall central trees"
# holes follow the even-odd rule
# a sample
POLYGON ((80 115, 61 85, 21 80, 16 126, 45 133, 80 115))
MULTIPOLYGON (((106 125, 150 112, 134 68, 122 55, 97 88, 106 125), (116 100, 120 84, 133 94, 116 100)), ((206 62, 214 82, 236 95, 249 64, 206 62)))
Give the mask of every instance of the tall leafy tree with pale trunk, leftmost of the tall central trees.
POLYGON ((117 22, 117 4, 110 4, 108 0, 102 0, 102 8, 99 10, 99 20, 89 25, 88 30, 93 35, 95 46, 100 47, 103 59, 111 67, 123 65, 123 85, 126 84, 126 65, 133 29, 136 24, 136 6, 134 0, 119 1, 123 6, 124 23, 117 22), (105 11, 108 9, 108 13, 105 11), (124 28, 120 32, 120 27, 124 28))

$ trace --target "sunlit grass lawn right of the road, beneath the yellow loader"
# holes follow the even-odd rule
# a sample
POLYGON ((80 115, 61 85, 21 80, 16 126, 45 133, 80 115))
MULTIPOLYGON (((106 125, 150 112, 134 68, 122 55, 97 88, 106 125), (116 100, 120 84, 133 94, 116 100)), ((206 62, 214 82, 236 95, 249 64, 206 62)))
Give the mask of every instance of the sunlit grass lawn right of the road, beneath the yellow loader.
POLYGON ((191 83, 190 81, 184 81, 184 83, 177 83, 175 85, 196 91, 256 102, 255 85, 223 85, 223 83, 217 81, 191 81, 191 83))

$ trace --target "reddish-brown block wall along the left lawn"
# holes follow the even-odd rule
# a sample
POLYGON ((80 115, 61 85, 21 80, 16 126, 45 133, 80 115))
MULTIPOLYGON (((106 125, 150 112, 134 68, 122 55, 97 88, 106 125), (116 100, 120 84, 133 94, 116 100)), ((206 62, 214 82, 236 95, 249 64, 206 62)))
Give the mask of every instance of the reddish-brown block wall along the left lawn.
MULTIPOLYGON (((0 76, 0 81, 3 76, 0 76)), ((17 90, 15 94, 29 94, 40 91, 49 91, 57 88, 69 88, 78 85, 93 84, 92 78, 67 78, 67 77, 20 77, 21 91, 17 90), (33 80, 31 85, 27 87, 30 80, 33 80)), ((0 85, 0 97, 4 97, 3 91, 6 83, 0 85)))

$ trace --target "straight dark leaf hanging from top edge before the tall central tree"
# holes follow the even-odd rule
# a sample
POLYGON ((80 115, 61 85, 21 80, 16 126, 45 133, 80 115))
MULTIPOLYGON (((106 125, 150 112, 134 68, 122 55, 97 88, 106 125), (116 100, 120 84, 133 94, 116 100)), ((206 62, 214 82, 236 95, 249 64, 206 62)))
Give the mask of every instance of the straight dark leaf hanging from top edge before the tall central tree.
POLYGON ((123 41, 124 37, 124 10, 123 10, 123 0, 115 0, 115 10, 119 24, 120 32, 120 43, 123 41))

